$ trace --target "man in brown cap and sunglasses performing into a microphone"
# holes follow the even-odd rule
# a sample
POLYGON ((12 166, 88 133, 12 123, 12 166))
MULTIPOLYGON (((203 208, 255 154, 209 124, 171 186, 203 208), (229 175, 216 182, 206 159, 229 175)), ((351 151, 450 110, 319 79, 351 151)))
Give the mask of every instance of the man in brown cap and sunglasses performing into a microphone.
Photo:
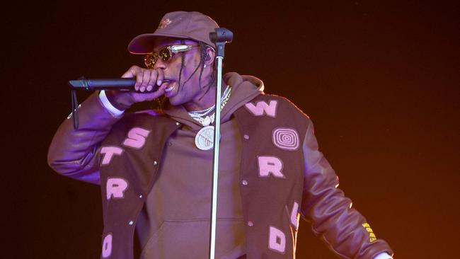
POLYGON ((294 258, 300 217, 341 258, 391 258, 338 189, 301 110, 236 73, 223 76, 215 107, 214 28, 202 13, 166 13, 128 45, 145 55, 145 68, 122 75, 137 80, 135 91, 94 93, 78 110, 79 129, 67 119, 54 135, 50 166, 101 187, 101 258, 134 258, 134 234, 142 259, 208 257, 217 109, 216 258, 294 258), (161 109, 125 114, 156 98, 161 109))

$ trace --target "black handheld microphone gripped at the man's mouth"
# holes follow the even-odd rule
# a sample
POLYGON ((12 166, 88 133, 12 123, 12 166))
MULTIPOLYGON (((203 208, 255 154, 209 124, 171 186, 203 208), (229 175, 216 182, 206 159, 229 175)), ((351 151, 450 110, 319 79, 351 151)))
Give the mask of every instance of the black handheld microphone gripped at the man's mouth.
MULTIPOLYGON (((83 89, 88 91, 96 90, 118 90, 118 91, 133 91, 136 79, 134 78, 119 78, 119 79, 85 79, 70 80, 69 86, 72 89, 83 89)), ((159 86, 154 86, 151 92, 157 91, 159 86)))

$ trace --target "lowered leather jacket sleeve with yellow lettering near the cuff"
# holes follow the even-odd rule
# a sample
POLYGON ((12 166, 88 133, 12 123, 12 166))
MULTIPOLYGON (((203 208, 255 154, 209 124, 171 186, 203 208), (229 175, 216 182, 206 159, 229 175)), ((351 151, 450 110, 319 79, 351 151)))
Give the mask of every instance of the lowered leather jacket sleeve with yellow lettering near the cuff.
POLYGON ((309 127, 303 144, 304 192, 301 215, 311 222, 314 233, 341 258, 374 258, 393 254, 388 243, 377 239, 366 219, 338 189, 338 176, 318 151, 314 127, 309 127))

